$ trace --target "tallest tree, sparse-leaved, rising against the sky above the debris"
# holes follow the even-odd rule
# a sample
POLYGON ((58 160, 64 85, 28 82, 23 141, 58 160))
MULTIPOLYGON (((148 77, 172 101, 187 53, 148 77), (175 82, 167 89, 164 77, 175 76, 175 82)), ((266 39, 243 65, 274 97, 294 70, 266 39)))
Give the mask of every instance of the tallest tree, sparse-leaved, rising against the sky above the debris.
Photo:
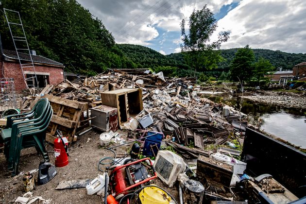
POLYGON ((217 20, 206 5, 201 10, 193 10, 189 17, 188 33, 185 31, 185 24, 185 19, 183 19, 181 22, 183 37, 181 49, 185 52, 186 62, 193 68, 194 74, 199 68, 209 70, 217 67, 221 57, 219 52, 213 52, 213 50, 220 49, 221 43, 228 40, 229 33, 221 32, 218 40, 210 43, 210 37, 217 29, 217 20))

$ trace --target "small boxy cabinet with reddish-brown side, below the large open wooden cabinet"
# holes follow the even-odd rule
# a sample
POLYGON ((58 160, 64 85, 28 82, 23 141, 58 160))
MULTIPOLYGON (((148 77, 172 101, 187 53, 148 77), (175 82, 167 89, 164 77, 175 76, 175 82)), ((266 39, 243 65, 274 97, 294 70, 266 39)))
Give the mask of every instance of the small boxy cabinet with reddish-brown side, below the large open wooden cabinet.
POLYGON ((103 132, 118 130, 118 109, 106 105, 91 108, 91 126, 103 132))

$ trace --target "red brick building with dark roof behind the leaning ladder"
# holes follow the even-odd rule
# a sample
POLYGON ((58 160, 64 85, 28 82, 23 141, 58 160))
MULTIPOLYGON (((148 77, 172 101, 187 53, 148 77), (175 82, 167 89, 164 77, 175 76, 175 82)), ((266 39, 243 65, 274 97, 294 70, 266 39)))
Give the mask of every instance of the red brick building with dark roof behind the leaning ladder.
MULTIPOLYGON (((65 66, 63 64, 40 55, 31 55, 39 87, 44 87, 47 84, 58 85, 64 81, 65 66)), ((22 64, 31 61, 29 54, 19 53, 19 57, 22 60, 22 64)), ((30 78, 34 74, 33 68, 23 68, 23 70, 26 74, 26 78, 30 78)), ((15 88, 17 91, 27 88, 16 51, 1 49, 0 78, 14 78, 15 88)), ((28 82, 28 86, 31 87, 34 83, 36 84, 36 81, 33 79, 33 81, 28 82)))

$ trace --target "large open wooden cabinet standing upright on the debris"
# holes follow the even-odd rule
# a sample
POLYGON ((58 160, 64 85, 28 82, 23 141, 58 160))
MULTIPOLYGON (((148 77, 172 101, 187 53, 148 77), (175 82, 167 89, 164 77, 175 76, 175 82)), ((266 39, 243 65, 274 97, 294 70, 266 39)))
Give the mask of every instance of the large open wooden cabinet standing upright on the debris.
POLYGON ((102 105, 118 109, 119 125, 128 122, 142 109, 142 91, 140 88, 122 88, 101 93, 102 105))

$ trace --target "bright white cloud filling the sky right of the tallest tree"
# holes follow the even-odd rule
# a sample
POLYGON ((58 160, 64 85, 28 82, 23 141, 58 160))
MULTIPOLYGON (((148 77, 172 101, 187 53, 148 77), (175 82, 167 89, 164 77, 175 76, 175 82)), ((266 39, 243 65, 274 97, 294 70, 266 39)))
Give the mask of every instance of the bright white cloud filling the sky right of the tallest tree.
POLYGON ((249 44, 251 48, 306 52, 305 8, 305 0, 242 0, 218 21, 217 32, 231 33, 222 49, 249 44))

